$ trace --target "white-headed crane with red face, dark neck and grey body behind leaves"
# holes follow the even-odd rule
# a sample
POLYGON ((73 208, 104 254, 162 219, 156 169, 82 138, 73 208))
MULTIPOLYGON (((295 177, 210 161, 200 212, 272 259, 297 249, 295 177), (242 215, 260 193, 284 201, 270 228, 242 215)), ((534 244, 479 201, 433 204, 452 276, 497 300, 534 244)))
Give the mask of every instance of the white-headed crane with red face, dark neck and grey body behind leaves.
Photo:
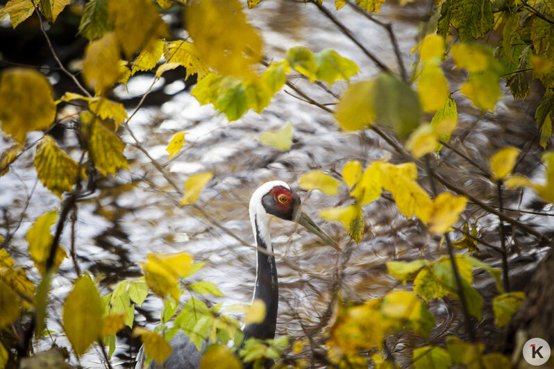
MULTIPOLYGON (((265 302, 266 316, 262 323, 249 324, 244 327, 244 341, 251 337, 260 339, 275 338, 279 286, 269 232, 269 221, 273 216, 303 225, 330 246, 342 252, 337 243, 324 230, 319 228, 319 225, 312 221, 308 214, 302 211, 300 197, 283 181, 266 182, 258 187, 250 200, 249 213, 258 254, 253 300, 260 299, 265 302)), ((173 349, 171 356, 162 366, 158 366, 155 361, 152 361, 150 369, 199 367, 203 350, 206 347, 205 341, 199 351, 193 343, 189 342, 189 338, 182 331, 179 331, 169 340, 169 344, 173 349)), ((142 369, 143 363, 144 346, 141 347, 137 355, 135 369, 142 369)))

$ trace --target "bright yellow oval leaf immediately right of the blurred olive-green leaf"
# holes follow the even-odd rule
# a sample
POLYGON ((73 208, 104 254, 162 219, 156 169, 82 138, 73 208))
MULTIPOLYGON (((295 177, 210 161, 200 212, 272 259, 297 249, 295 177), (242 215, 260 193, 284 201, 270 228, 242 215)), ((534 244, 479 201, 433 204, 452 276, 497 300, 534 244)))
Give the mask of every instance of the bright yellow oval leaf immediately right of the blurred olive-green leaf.
POLYGON ((442 108, 450 95, 448 81, 437 65, 427 64, 421 69, 417 89, 421 107, 426 112, 436 112, 442 108))

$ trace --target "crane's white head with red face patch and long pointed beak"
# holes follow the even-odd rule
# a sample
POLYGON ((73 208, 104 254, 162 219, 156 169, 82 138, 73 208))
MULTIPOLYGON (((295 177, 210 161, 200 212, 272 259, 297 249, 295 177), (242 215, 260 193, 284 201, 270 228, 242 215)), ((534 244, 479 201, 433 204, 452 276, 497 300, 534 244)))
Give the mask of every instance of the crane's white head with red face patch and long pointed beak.
POLYGON ((302 225, 328 245, 342 252, 337 243, 308 214, 302 211, 300 196, 295 194, 283 181, 266 182, 258 187, 250 200, 249 210, 253 226, 255 226, 256 219, 260 224, 269 224, 271 216, 276 216, 285 221, 293 221, 302 225))

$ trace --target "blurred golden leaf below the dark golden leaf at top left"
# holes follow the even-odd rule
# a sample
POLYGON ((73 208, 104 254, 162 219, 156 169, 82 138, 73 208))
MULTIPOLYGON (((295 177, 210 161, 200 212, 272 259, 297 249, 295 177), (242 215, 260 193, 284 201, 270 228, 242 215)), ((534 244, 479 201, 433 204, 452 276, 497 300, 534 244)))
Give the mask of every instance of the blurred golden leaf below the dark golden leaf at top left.
MULTIPOLYGON (((110 1, 110 3, 120 3, 110 1)), ((114 33, 106 33, 98 40, 92 41, 85 49, 83 59, 83 78, 85 83, 94 88, 96 94, 103 94, 115 85, 123 76, 119 65, 119 49, 114 33)))

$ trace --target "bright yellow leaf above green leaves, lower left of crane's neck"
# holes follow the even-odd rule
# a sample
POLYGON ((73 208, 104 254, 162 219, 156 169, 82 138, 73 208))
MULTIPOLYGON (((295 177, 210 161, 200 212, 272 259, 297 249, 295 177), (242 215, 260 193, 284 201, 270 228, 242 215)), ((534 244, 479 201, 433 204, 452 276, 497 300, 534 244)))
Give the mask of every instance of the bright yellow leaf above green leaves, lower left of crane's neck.
POLYGON ((178 278, 183 277, 192 266, 192 257, 185 252, 178 254, 149 254, 146 263, 139 263, 146 284, 153 293, 165 298, 170 295, 179 300, 178 278))

